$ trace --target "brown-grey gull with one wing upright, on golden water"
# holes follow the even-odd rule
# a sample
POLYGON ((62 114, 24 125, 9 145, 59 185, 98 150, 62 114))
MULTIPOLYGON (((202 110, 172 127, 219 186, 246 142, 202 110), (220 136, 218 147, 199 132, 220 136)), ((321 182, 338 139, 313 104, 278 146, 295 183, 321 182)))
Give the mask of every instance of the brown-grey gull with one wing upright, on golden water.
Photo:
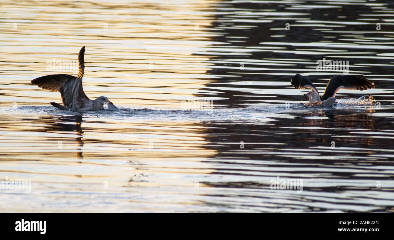
MULTIPOLYGON (((78 76, 69 74, 46 75, 32 80, 32 84, 46 90, 59 91, 63 105, 56 102, 50 104, 60 110, 69 111, 90 111, 102 110, 105 102, 113 105, 107 97, 98 97, 95 100, 89 99, 82 88, 82 77, 85 69, 85 46, 81 48, 78 54, 78 76)), ((115 105, 113 105, 115 106, 115 105)), ((116 108, 116 106, 115 106, 116 108)))

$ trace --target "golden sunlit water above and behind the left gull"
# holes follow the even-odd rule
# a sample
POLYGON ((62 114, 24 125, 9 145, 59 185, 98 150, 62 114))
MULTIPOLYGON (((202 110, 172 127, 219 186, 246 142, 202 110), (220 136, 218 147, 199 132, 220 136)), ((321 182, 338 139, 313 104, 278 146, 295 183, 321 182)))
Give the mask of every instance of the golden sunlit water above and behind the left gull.
MULTIPOLYGON (((59 93, 32 86, 47 61, 76 60, 86 46, 84 90, 121 106, 180 108, 207 77, 212 1, 56 2, 2 4, 2 101, 59 102, 59 93), (51 9, 50 11, 48 9, 51 9), (23 18, 21 18, 23 16, 23 18), (56 17, 54 17, 56 16, 56 17), (13 30, 13 24, 17 29, 13 30), (198 24, 196 26, 195 24, 198 24)), ((72 74, 72 72, 61 72, 72 74)))

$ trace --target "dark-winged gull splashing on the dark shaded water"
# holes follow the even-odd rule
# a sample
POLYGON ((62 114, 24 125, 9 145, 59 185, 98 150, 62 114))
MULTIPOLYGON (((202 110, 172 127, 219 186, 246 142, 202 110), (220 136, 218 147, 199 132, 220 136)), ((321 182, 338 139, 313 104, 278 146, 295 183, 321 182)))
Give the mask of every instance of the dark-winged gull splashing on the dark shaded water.
POLYGON ((330 78, 327 87, 325 87, 323 95, 319 96, 318 89, 316 89, 316 87, 312 82, 309 81, 308 78, 302 76, 301 74, 297 73, 290 82, 293 87, 297 89, 312 89, 312 91, 309 91, 309 93, 305 93, 303 95, 304 97, 309 97, 309 104, 314 102, 333 103, 335 102, 336 92, 338 92, 338 90, 341 88, 362 91, 376 87, 374 82, 360 76, 337 75, 330 78))

